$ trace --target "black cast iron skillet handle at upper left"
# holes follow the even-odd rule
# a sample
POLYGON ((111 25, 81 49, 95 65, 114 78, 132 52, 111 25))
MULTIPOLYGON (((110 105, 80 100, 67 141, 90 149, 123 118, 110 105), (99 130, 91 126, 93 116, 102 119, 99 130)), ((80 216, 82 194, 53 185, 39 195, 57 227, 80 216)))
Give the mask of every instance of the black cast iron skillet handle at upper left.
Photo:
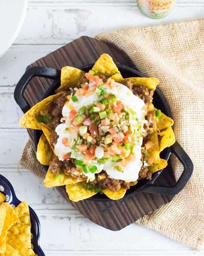
POLYGON ((60 75, 61 70, 46 67, 32 67, 25 72, 14 90, 14 99, 23 113, 27 112, 31 108, 23 95, 31 79, 34 77, 44 77, 54 80, 59 79, 60 75))

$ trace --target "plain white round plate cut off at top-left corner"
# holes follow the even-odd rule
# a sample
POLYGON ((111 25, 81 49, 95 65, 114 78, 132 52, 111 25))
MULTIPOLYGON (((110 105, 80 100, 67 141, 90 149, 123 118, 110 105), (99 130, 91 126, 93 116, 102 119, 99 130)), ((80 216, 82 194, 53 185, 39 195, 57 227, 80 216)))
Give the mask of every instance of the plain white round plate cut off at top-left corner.
POLYGON ((0 57, 16 39, 23 24, 28 0, 0 0, 0 57))

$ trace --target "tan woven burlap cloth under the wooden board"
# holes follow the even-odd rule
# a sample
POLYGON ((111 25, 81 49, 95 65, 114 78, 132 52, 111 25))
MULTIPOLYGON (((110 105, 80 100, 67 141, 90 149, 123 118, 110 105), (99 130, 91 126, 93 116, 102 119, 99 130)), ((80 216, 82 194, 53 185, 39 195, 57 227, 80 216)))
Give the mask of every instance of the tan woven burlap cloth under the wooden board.
MULTIPOLYGON (((131 27, 95 37, 130 56, 139 71, 157 77, 174 118, 177 141, 194 163, 186 187, 167 205, 136 223, 196 250, 204 241, 204 19, 151 27, 131 27)), ((43 174, 30 143, 21 164, 43 174)), ((172 159, 175 177, 182 166, 172 159)))

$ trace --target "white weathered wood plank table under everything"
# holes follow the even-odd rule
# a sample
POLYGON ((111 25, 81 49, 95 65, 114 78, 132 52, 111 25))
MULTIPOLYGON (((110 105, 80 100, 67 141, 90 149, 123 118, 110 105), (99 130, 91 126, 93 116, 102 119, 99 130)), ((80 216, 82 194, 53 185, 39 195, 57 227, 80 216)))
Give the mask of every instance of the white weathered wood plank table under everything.
POLYGON ((106 230, 73 209, 55 188, 44 187, 42 179, 19 165, 28 134, 18 127, 22 111, 13 98, 15 85, 30 63, 80 36, 203 14, 203 0, 177 0, 171 14, 161 20, 143 16, 136 0, 28 1, 23 27, 0 58, 0 172, 12 183, 17 197, 38 215, 40 245, 46 255, 204 255, 134 223, 121 231, 106 230))

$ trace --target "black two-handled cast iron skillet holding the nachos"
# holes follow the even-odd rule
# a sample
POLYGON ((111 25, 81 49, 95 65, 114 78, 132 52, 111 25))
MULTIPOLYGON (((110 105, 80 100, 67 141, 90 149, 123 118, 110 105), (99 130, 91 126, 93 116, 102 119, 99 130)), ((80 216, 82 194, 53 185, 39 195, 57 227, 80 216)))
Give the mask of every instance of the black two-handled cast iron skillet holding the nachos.
MULTIPOLYGON (((82 67, 79 67, 79 69, 88 72, 94 64, 85 65, 82 67)), ((121 72, 122 76, 124 78, 127 77, 143 77, 141 73, 139 73, 136 68, 130 68, 124 65, 117 65, 119 71, 121 72)), ((52 69, 52 68, 46 68, 46 67, 32 67, 29 70, 26 71, 26 73, 22 76, 18 84, 16 85, 15 91, 14 91, 14 98, 16 103, 20 106, 22 111, 25 113, 30 109, 30 105, 26 101, 24 97, 24 91, 30 82, 30 80, 33 77, 44 77, 53 79, 53 83, 48 88, 48 90, 43 95, 42 99, 48 97, 49 95, 54 94, 55 90, 60 86, 60 70, 52 69)), ((160 109, 164 114, 172 118, 170 106, 164 97, 162 91, 157 87, 154 92, 154 98, 153 98, 153 104, 157 109, 160 109)), ((40 138, 42 131, 41 130, 34 130, 34 144, 35 149, 37 150, 37 144, 40 138)), ((170 146, 169 148, 166 148, 164 151, 160 153, 161 158, 166 159, 168 161, 169 156, 171 154, 175 154, 176 157, 179 159, 181 164, 184 166, 184 170, 178 179, 178 181, 175 183, 174 186, 168 187, 168 186, 157 186, 154 185, 154 182, 156 178, 159 176, 159 174, 162 172, 162 170, 154 173, 152 175, 151 180, 139 180, 137 185, 130 187, 130 189, 127 190, 124 197, 132 196, 138 192, 145 191, 148 193, 156 193, 156 194, 162 194, 162 195, 176 195, 178 194, 186 185, 188 180, 190 179, 192 172, 193 172, 193 163, 189 156, 186 154, 186 152, 183 150, 183 148, 179 145, 179 143, 176 141, 174 145, 170 146)), ((45 170, 48 170, 47 166, 44 166, 45 170)), ((100 195, 99 193, 95 196, 88 198, 86 200, 91 201, 110 201, 111 199, 107 199, 105 195, 100 195)))

